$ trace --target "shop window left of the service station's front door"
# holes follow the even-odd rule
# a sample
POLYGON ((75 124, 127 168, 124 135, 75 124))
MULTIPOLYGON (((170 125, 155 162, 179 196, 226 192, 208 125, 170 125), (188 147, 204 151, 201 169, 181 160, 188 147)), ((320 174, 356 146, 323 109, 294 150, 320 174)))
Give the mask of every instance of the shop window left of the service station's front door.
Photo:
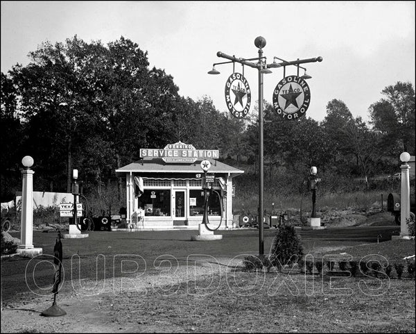
POLYGON ((146 216, 171 215, 171 190, 145 189, 138 199, 139 208, 144 209, 146 216))

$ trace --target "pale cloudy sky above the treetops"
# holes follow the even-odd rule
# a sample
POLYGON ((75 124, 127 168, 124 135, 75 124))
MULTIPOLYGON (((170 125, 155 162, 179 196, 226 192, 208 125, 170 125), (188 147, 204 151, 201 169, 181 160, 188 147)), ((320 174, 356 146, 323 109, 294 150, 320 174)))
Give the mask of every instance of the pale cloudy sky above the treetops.
MULTIPOLYGON (((257 57, 257 36, 266 38, 268 62, 322 56, 302 65, 313 76, 306 115, 317 121, 331 99, 367 121, 384 87, 397 81, 415 86, 415 1, 1 1, 1 72, 17 62, 27 65, 28 53, 42 42, 74 35, 103 44, 123 35, 148 51, 150 67, 173 76, 182 96, 196 101, 207 95, 224 112, 232 64, 218 65, 220 75, 207 72, 227 61, 217 51, 257 57)), ((244 72, 253 109, 258 72, 247 66, 244 72)), ((270 103, 283 69, 272 72, 264 75, 263 90, 270 103)), ((291 74, 293 66, 286 68, 291 74)))

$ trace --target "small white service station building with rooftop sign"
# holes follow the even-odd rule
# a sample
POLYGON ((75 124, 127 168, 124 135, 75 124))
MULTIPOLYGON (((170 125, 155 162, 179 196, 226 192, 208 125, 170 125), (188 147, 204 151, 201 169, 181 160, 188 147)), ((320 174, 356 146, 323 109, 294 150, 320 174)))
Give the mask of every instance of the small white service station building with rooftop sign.
POLYGON ((147 230, 198 228, 205 175, 200 164, 208 160, 213 190, 208 202, 209 222, 218 226, 221 221, 220 229, 231 228, 232 179, 244 172, 217 161, 218 157, 218 150, 197 150, 182 142, 164 149, 141 149, 139 161, 116 169, 118 176, 125 176, 128 226, 147 230))

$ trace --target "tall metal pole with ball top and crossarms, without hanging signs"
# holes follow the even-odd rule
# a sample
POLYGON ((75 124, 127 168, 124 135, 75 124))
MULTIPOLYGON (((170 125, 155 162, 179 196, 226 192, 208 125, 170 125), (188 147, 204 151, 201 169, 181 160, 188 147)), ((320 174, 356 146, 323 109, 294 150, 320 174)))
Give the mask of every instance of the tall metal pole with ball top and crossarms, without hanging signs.
MULTIPOLYGON (((254 40, 254 45, 259 49, 259 56, 257 58, 236 58, 235 56, 229 56, 223 52, 218 51, 216 54, 220 58, 225 58, 230 60, 234 65, 234 62, 239 62, 242 65, 247 65, 259 71, 259 255, 264 253, 264 240, 263 240, 263 74, 270 74, 270 68, 277 67, 286 67, 288 65, 295 65, 299 68, 299 64, 304 64, 306 62, 321 62, 322 57, 318 58, 309 58, 309 59, 297 59, 293 61, 282 61, 282 62, 272 62, 267 64, 266 57, 263 56, 263 47, 266 47, 266 39, 264 37, 256 37, 254 40), (251 60, 257 60, 257 62, 252 62, 251 60)), ((277 58, 277 57, 275 57, 277 58)), ((279 59, 279 58, 277 58, 279 59)), ((212 70, 208 74, 220 74, 218 70, 215 69, 215 65, 225 64, 229 62, 218 62, 214 63, 212 70)), ((305 69, 306 72, 306 69, 305 69)), ((306 77, 305 77, 306 78, 306 77)))

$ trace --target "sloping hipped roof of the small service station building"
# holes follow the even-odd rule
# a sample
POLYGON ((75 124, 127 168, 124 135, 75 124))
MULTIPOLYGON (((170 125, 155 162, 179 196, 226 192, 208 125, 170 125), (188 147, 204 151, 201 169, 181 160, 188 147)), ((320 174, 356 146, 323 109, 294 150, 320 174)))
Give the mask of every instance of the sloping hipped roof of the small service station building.
MULTIPOLYGON (((211 168, 209 173, 229 173, 232 176, 243 174, 244 171, 235 167, 226 165, 223 162, 214 159, 205 159, 211 162, 211 168)), ((184 163, 169 163, 164 162, 161 158, 145 158, 136 162, 125 165, 119 169, 116 169, 116 174, 121 173, 202 173, 200 167, 201 160, 197 160, 191 164, 184 163)))

